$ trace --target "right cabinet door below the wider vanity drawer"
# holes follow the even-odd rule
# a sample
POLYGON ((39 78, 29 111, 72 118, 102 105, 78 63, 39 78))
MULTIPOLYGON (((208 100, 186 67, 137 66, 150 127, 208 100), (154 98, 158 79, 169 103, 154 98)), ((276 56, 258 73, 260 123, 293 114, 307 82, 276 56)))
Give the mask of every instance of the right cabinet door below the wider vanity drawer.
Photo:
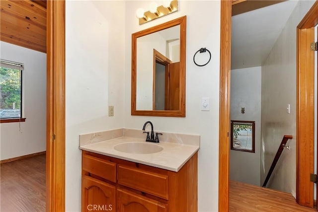
POLYGON ((127 190, 117 189, 117 212, 167 212, 167 205, 127 190))

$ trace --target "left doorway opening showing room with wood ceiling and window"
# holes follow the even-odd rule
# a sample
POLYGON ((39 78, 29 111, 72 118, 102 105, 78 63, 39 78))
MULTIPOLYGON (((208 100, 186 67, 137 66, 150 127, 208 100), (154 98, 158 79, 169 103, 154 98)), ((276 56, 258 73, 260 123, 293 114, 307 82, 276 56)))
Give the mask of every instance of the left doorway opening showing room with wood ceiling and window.
POLYGON ((6 75, 8 94, 7 104, 1 102, 1 109, 8 109, 1 114, 1 210, 43 211, 46 1, 1 0, 0 4, 1 86, 6 75))

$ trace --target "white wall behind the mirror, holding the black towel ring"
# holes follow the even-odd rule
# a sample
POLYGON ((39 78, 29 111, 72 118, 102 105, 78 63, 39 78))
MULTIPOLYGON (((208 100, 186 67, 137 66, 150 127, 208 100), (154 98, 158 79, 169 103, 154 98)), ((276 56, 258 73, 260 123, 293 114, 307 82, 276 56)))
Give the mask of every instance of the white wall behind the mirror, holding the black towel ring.
MULTIPOLYGON (((162 3, 162 1, 158 1, 162 3)), ((126 1, 125 21, 125 127, 142 129, 152 121, 155 131, 199 134, 198 208, 218 211, 219 177, 219 83, 220 83, 220 1, 179 0, 179 11, 139 25, 136 10, 149 8, 149 1, 126 1), (131 34, 187 15, 186 117, 131 116, 131 34), (193 55, 206 47, 210 63, 198 67, 193 55), (201 97, 210 97, 210 111, 201 111, 201 97)))

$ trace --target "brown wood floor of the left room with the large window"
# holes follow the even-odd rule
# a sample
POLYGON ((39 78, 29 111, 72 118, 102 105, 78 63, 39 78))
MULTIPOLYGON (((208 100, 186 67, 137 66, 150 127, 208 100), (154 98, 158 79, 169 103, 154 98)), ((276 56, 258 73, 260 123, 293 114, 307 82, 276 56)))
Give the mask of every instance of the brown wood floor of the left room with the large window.
POLYGON ((45 157, 42 154, 1 164, 1 212, 45 212, 45 157))

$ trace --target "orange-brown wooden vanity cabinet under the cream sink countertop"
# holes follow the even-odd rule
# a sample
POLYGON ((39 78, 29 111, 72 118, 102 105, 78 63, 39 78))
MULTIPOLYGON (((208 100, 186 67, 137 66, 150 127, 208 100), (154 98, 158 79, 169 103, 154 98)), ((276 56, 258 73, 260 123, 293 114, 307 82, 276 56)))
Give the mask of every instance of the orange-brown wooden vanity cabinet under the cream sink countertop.
POLYGON ((81 211, 196 212, 197 160, 173 172, 82 151, 81 211))

